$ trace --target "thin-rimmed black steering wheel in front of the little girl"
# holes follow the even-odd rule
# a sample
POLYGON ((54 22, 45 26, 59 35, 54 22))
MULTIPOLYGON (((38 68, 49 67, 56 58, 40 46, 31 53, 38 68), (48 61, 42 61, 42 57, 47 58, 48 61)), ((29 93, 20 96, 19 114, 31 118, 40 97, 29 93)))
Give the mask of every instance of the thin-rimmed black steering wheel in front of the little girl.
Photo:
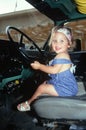
POLYGON ((36 45, 36 43, 18 28, 8 26, 6 28, 6 33, 11 43, 15 43, 16 42, 15 39, 17 39, 16 43, 18 43, 18 51, 20 52, 20 54, 23 56, 24 59, 28 61, 30 61, 31 59, 36 59, 36 55, 33 54, 33 52, 30 54, 27 53, 25 46, 23 46, 25 45, 25 41, 27 42, 27 44, 30 43, 28 44, 28 46, 30 46, 29 51, 32 50, 31 48, 34 48, 36 52, 38 50, 38 52, 40 52, 40 54, 43 55, 41 49, 36 45), (13 34, 15 34, 16 37, 14 37, 13 34))

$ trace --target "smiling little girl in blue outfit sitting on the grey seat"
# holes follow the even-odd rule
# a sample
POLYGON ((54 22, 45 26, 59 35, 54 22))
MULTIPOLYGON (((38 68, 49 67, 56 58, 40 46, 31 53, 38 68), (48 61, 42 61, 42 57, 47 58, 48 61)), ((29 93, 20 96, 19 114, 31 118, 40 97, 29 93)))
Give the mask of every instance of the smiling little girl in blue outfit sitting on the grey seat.
POLYGON ((74 96, 78 92, 78 86, 73 73, 70 71, 72 62, 68 54, 68 49, 73 45, 71 30, 66 27, 52 29, 49 45, 56 52, 55 58, 50 62, 49 66, 34 61, 31 66, 35 70, 41 70, 48 73, 50 80, 45 81, 38 86, 33 96, 19 104, 19 111, 29 111, 32 101, 42 94, 52 96, 74 96))

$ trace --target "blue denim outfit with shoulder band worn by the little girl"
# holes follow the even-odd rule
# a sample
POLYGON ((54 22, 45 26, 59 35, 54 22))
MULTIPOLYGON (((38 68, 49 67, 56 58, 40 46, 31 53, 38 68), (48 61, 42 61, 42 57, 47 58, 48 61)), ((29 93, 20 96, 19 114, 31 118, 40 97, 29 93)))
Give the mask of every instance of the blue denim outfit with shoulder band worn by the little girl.
MULTIPOLYGON (((53 59, 50 65, 55 64, 72 64, 72 62, 68 59, 53 59)), ((54 86, 59 96, 74 96, 77 94, 77 82, 70 69, 57 74, 49 74, 49 76, 51 79, 47 83, 54 86)))

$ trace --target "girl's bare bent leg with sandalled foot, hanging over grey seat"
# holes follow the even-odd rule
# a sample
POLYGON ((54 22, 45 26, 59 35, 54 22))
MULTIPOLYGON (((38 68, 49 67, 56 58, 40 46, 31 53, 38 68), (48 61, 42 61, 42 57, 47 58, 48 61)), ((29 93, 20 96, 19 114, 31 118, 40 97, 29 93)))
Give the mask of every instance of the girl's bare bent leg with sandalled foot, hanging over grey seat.
POLYGON ((35 91, 35 93, 33 94, 33 96, 29 100, 27 100, 27 101, 19 104, 17 106, 17 109, 19 111, 28 111, 28 110, 30 110, 30 104, 32 103, 32 101, 34 101, 38 96, 41 96, 42 94, 48 94, 48 95, 52 95, 52 96, 58 96, 58 93, 54 89, 53 85, 43 83, 43 84, 41 84, 37 88, 37 90, 35 91))

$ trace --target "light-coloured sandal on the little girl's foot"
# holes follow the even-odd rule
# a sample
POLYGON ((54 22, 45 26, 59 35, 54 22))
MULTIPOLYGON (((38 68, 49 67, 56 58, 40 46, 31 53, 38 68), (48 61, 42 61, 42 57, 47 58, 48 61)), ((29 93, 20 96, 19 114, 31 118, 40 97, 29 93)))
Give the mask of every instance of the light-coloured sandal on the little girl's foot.
POLYGON ((29 105, 28 101, 25 101, 25 102, 19 104, 17 106, 17 109, 19 111, 22 111, 22 112, 24 112, 24 111, 30 111, 30 105, 29 105))

